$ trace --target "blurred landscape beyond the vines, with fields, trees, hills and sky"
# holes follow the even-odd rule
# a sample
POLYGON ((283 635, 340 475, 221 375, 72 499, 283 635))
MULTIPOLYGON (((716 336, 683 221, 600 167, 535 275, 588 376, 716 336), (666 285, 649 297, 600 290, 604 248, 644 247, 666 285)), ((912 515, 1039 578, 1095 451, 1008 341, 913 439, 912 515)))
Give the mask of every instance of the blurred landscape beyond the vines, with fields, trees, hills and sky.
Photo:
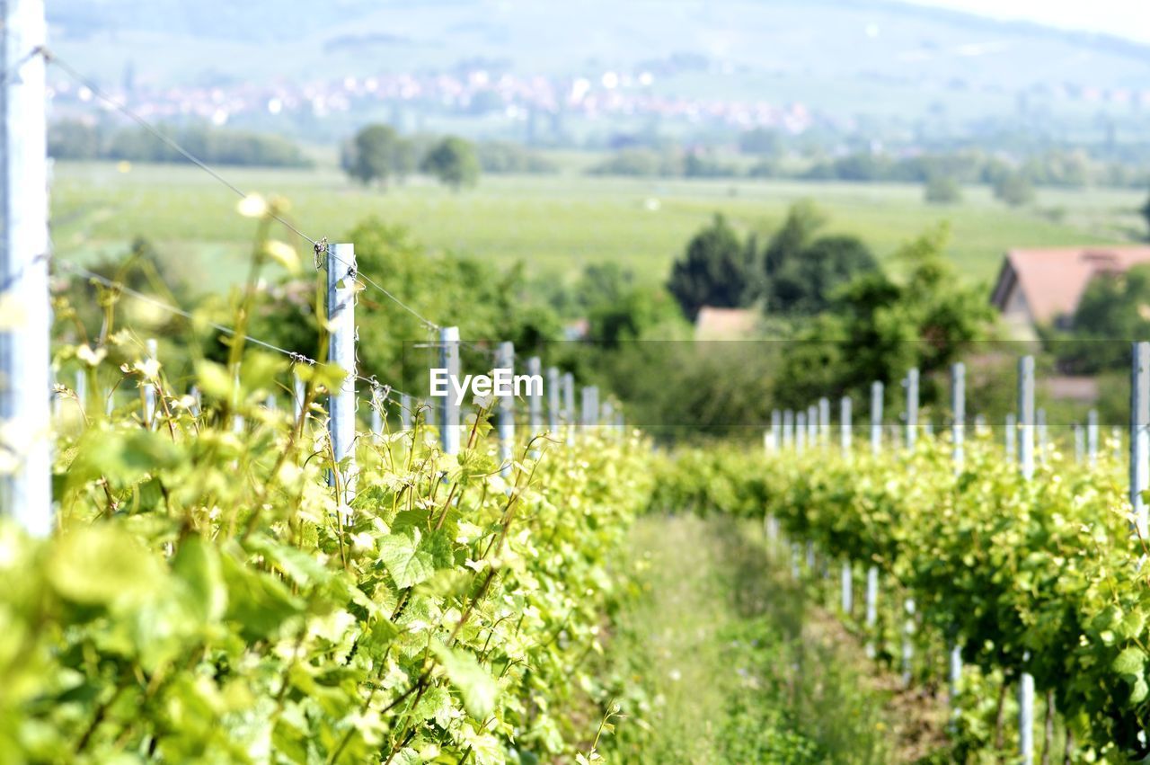
MULTIPOLYGON (((1040 344, 1052 423, 1090 406, 1125 421, 1107 384, 1125 345, 1097 341, 1150 331, 1143 5, 55 0, 48 16, 90 81, 49 68, 55 251, 136 289, 230 315, 252 225, 114 104, 285 198, 313 238, 354 242, 416 311, 549 355, 652 430, 758 437, 775 406, 914 365, 930 406, 959 357, 997 422, 1018 352, 1002 343, 1040 344)), ((268 280, 253 334, 310 347, 313 281, 268 280)), ((424 328, 363 299, 363 362, 400 378, 424 328)), ((151 321, 178 369, 179 318, 151 321)))

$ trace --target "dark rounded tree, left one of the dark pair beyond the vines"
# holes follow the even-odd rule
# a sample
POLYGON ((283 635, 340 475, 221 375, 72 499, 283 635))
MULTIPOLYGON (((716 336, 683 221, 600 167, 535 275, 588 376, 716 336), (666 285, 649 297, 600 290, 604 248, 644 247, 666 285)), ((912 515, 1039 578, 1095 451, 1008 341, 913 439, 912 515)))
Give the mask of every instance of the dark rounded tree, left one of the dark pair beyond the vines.
POLYGON ((711 224, 691 237, 683 257, 675 261, 667 290, 678 301, 683 315, 695 321, 699 308, 735 308, 747 296, 746 250, 727 220, 715 214, 711 224))

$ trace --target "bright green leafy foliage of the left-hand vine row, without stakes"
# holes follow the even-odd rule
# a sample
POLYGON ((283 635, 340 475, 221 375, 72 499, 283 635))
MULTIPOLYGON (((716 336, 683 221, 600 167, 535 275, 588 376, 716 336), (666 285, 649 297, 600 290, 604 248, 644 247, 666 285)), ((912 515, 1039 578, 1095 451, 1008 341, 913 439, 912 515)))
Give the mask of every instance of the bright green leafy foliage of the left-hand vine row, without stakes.
POLYGON ((5 758, 493 764, 570 759, 593 735, 585 657, 646 502, 645 444, 520 443, 505 479, 484 411, 458 456, 419 418, 358 441, 348 506, 315 406, 343 370, 298 368, 289 419, 262 406, 284 359, 235 341, 227 366, 198 364, 200 411, 130 334, 92 342, 59 357, 154 385, 156 428, 135 405, 68 405, 59 531, 0 522, 5 758))

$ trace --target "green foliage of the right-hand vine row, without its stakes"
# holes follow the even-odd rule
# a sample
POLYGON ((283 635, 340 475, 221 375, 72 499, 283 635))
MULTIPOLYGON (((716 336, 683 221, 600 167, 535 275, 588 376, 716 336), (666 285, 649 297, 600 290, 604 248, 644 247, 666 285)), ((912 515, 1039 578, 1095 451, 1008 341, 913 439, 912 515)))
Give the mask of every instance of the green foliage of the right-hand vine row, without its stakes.
MULTIPOLYGON (((972 736, 994 737, 977 733, 994 693, 982 679, 1005 672, 1011 682, 1025 668, 1040 695, 1053 691, 1080 742, 1072 762, 1144 757, 1150 596, 1124 468, 1109 447, 1095 471, 1052 451, 1025 481, 997 442, 977 434, 957 472, 945 437, 920 437, 913 453, 850 459, 819 449, 766 461, 687 452, 660 475, 657 502, 766 514, 826 560, 876 566, 883 603, 914 598, 917 655, 938 657, 940 637, 958 636, 973 678, 959 728, 972 736)), ((860 615, 852 629, 894 660, 898 634, 860 615)))

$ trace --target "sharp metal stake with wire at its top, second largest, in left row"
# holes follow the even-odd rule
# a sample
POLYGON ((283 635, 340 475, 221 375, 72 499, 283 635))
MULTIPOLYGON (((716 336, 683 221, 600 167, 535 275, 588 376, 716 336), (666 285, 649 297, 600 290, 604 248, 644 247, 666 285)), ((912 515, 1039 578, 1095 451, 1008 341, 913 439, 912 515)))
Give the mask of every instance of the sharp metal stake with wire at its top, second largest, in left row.
POLYGON ((342 505, 355 497, 355 246, 328 245, 328 361, 344 370, 339 387, 330 391, 328 431, 335 454, 332 485, 342 485, 342 505))

